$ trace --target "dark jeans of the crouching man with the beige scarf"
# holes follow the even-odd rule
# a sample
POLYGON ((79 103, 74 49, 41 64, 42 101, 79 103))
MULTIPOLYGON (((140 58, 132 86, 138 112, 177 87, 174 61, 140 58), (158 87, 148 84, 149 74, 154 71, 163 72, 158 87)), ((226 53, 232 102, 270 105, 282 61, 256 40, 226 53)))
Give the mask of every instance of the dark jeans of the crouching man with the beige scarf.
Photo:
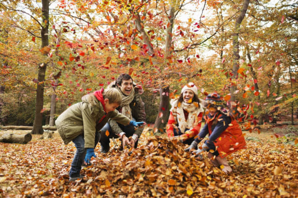
MULTIPOLYGON (((122 124, 119 124, 119 127, 122 129, 122 131, 125 133, 125 136, 128 138, 128 137, 131 137, 133 134, 134 134, 134 127, 132 125, 122 125, 122 124)), ((106 150, 106 151, 109 151, 110 150, 110 139, 112 138, 119 138, 119 136, 117 136, 116 134, 114 134, 112 132, 112 129, 111 129, 111 126, 109 123, 106 123, 104 125, 104 127, 101 129, 101 140, 100 140, 100 143, 101 143, 101 146, 102 146, 102 149, 106 150), (106 136, 106 131, 109 131, 109 136, 106 136)), ((137 147, 137 144, 138 144, 138 140, 135 142, 134 144, 134 148, 137 147)))

